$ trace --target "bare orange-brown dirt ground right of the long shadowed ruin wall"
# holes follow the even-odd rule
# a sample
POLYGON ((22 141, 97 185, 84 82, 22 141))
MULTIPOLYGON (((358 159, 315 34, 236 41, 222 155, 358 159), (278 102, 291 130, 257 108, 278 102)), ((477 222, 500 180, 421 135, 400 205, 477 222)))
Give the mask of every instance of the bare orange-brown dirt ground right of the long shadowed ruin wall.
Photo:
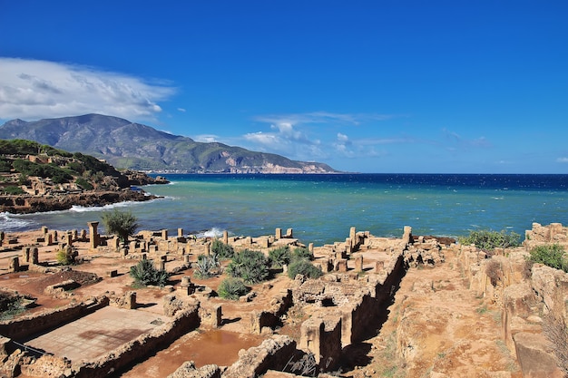
POLYGON ((475 297, 455 257, 434 268, 410 268, 387 320, 353 346, 348 377, 522 378, 500 335, 501 311, 475 297), (405 358, 401 358, 400 355, 405 358))

